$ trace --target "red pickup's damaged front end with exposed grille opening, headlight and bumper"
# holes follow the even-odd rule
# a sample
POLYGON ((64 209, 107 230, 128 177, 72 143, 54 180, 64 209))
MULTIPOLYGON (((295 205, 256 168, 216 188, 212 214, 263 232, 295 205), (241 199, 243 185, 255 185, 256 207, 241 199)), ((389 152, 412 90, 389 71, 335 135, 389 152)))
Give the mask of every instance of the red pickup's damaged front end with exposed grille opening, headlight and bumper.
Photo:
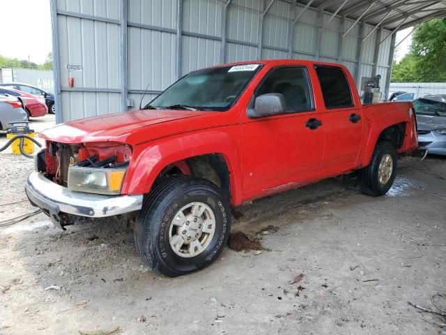
MULTIPOLYGON (((141 209, 142 195, 121 195, 132 147, 119 142, 47 141, 25 190, 32 204, 63 228, 69 214, 105 217, 141 209)), ((64 229, 64 228, 63 228, 64 229)))

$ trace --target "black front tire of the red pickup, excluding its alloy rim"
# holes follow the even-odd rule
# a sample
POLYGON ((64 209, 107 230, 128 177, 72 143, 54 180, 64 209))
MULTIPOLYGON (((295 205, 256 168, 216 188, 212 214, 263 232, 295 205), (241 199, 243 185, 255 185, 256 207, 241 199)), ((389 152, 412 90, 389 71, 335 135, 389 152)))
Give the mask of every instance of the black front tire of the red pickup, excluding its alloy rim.
POLYGON ((151 269, 167 276, 181 276, 210 265, 222 252, 231 230, 231 211, 220 189, 197 177, 162 177, 144 199, 134 225, 134 244, 151 269), (203 202, 215 216, 215 232, 206 248, 184 258, 171 248, 169 229, 180 209, 203 202))

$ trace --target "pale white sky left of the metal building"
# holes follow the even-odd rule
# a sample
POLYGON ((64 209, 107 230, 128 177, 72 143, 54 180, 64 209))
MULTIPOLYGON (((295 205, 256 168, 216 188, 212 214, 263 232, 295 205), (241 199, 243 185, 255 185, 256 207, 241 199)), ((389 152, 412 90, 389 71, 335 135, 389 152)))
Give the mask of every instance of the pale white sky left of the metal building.
POLYGON ((0 54, 42 64, 52 51, 49 0, 0 1, 0 54))

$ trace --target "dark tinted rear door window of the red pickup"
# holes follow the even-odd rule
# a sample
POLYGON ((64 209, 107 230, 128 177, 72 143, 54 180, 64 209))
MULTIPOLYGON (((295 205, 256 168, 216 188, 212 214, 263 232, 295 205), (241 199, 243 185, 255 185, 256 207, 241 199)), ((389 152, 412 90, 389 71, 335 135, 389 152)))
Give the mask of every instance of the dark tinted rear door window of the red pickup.
POLYGON ((355 107, 344 70, 335 66, 314 66, 323 95, 325 108, 355 107))

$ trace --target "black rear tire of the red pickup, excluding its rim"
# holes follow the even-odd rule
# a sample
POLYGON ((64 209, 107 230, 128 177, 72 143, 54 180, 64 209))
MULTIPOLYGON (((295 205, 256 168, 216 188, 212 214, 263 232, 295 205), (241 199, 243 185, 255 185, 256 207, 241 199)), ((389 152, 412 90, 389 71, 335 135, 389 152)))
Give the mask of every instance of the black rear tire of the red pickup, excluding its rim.
POLYGON ((393 144, 388 141, 381 141, 376 144, 371 155, 370 164, 359 171, 358 177, 362 182, 363 191, 368 195, 385 195, 390 190, 397 175, 398 156, 393 144), (390 178, 382 184, 378 177, 381 159, 385 155, 392 157, 392 173, 390 178))

